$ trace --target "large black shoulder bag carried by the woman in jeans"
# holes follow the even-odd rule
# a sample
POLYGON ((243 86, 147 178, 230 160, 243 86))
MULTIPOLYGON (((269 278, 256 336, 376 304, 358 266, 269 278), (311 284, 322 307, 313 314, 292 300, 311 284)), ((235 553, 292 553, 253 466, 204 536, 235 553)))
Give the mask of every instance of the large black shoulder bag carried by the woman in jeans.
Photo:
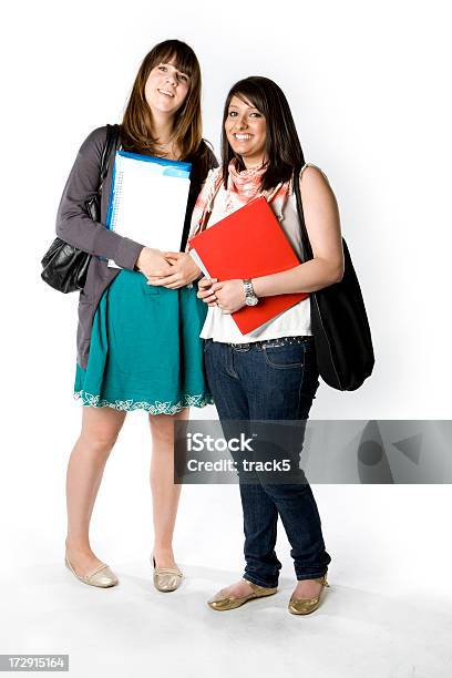
MULTIPOLYGON (((305 224, 299 172, 294 176, 304 261, 314 258, 305 224)), ((310 292, 311 331, 320 377, 340 391, 355 391, 373 369, 372 338, 358 278, 342 238, 345 273, 340 282, 310 292)))

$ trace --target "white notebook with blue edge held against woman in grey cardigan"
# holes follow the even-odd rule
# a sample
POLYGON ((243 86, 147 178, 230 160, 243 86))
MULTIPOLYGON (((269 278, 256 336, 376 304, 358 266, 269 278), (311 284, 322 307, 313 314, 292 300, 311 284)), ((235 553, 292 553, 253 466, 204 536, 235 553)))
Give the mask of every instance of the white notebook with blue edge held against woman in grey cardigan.
MULTIPOLYGON (((106 225, 163 251, 179 251, 191 163, 116 151, 106 225)), ((113 259, 109 266, 121 268, 113 259)))

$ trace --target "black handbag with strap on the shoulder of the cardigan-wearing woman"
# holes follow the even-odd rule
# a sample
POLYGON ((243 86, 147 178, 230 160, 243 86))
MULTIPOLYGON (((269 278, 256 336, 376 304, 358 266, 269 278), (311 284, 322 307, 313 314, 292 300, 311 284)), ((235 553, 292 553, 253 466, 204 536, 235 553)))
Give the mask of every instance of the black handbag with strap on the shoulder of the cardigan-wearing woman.
MULTIPOLYGON (((86 214, 94 220, 101 220, 101 196, 103 182, 107 175, 110 162, 117 146, 119 125, 106 125, 106 141, 102 152, 100 185, 96 195, 86 201, 86 214)), ((43 256, 41 278, 54 289, 64 294, 83 289, 86 281, 90 254, 55 238, 43 256)))

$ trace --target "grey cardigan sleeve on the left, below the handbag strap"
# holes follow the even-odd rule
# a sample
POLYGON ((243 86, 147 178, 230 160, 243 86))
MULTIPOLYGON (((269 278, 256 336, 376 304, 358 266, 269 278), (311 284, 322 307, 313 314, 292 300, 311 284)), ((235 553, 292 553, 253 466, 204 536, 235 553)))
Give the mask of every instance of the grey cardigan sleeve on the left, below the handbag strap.
POLYGON ((105 140, 106 126, 97 127, 81 145, 58 209, 56 235, 78 249, 133 269, 144 245, 94 222, 85 210, 86 201, 99 189, 105 140))

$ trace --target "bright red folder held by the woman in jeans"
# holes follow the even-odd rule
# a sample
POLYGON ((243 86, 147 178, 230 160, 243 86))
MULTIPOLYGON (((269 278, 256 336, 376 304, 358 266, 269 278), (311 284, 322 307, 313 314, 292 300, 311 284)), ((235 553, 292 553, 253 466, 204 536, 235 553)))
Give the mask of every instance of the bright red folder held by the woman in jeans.
MULTIPOLYGON (((208 277, 218 281, 259 278, 300 264, 265 197, 194 236, 189 247, 208 277)), ((257 306, 245 306, 233 318, 246 335, 307 297, 308 292, 261 297, 257 306)))

